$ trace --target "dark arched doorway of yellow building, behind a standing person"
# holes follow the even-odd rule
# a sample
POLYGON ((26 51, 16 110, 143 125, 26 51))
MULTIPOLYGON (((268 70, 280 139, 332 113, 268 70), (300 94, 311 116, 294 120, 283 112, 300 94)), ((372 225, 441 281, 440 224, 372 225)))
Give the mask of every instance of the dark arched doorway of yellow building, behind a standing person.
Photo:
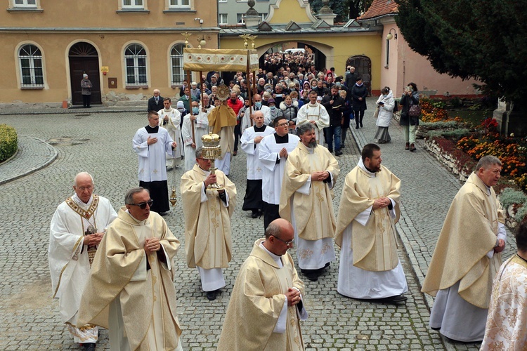
POLYGON ((72 105, 82 105, 82 74, 88 74, 91 81, 91 105, 101 105, 99 57, 96 48, 89 43, 79 42, 70 48, 70 80, 72 105))

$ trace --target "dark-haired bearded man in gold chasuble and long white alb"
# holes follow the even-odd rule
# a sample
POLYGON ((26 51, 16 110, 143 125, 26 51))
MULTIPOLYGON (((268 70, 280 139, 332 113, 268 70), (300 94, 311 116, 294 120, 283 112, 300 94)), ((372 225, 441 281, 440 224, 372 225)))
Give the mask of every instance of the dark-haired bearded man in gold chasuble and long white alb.
POLYGON ((337 291, 350 298, 399 303, 408 291, 395 229, 401 180, 381 162, 380 147, 365 145, 344 181, 335 238, 341 248, 337 291))

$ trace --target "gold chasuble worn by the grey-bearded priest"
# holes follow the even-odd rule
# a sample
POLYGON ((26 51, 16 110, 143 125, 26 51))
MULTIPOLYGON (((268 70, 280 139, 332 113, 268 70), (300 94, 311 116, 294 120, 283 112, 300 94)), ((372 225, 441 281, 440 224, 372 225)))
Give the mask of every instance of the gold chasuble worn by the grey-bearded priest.
POLYGON ((310 149, 299 142, 285 163, 280 193, 280 217, 291 222, 293 206, 297 233, 305 240, 333 238, 336 227, 333 192, 328 183, 311 181, 309 194, 297 192, 315 171, 330 171, 333 182, 336 182, 340 168, 337 160, 325 147, 310 149))

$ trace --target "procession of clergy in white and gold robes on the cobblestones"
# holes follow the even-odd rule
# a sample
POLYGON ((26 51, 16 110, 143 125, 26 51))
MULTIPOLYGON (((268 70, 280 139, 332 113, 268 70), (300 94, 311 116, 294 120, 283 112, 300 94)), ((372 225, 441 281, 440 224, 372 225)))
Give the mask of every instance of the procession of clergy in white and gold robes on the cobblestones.
MULTIPOLYGON (((48 251, 53 296, 74 341, 86 350, 95 349, 98 326, 109 329, 111 350, 184 349, 172 261, 180 243, 159 214, 169 210, 166 168, 182 157, 187 265, 197 268, 209 300, 226 286, 223 268, 232 258, 230 218, 237 198, 227 177, 237 125, 228 97, 228 89, 220 87, 215 107, 205 109, 192 101, 181 130, 181 114, 170 100, 164 100, 159 112, 148 113, 148 126, 133 139, 140 187, 127 192, 119 213, 93 194, 93 178, 84 172, 74 179, 75 194, 58 206, 48 251), (221 137, 215 172, 202 148, 202 136, 209 131, 221 137)), ((332 189, 339 164, 320 133, 329 126, 329 117, 315 100, 305 110, 299 113, 304 119, 297 120, 296 133, 289 133, 285 117, 270 121, 257 105, 245 112, 240 142, 247 153, 247 192, 242 209, 263 214, 265 238, 254 243, 240 268, 218 350, 304 350, 299 321, 308 318, 308 306, 296 267, 311 281, 323 279, 335 260, 333 240, 341 250, 337 290, 342 296, 394 304, 407 299, 395 229, 401 181, 382 166, 380 148, 365 145, 357 166, 346 175, 335 218, 332 189), (296 265, 287 252, 294 243, 296 265)), ((518 244, 518 255, 507 261, 516 267, 509 275, 516 274, 523 286, 509 284, 518 290, 508 295, 495 289, 502 295, 493 295, 490 304, 506 240, 503 212, 492 188, 500 170, 499 159, 483 157, 455 197, 423 291, 437 296, 430 325, 444 336, 460 341, 485 336, 484 350, 497 345, 525 350, 526 234, 518 239, 523 251, 518 244), (505 306, 514 309, 517 321, 505 315, 502 299, 508 299, 505 306), (491 323, 486 333, 487 314, 491 323)), ((498 274, 495 284, 500 279, 498 274)))

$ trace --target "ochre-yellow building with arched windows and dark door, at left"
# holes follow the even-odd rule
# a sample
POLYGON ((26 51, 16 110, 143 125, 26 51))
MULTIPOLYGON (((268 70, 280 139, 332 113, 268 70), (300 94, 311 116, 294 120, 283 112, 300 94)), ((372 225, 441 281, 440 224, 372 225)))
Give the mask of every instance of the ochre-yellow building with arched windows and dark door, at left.
POLYGON ((0 106, 82 105, 174 96, 183 81, 181 33, 189 46, 218 47, 216 0, 8 0, 0 11, 0 106))

